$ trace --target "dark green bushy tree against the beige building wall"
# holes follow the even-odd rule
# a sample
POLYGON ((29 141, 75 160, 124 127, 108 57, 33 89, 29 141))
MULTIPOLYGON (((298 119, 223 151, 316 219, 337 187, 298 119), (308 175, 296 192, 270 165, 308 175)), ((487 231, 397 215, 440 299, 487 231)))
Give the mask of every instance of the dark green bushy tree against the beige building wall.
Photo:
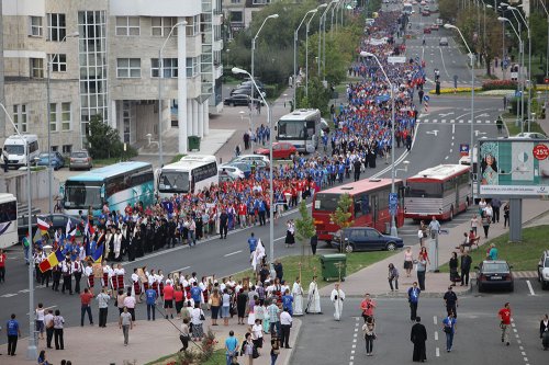
POLYGON ((131 146, 126 146, 124 151, 119 130, 104 123, 100 115, 94 115, 90 121, 87 142, 88 150, 94 159, 127 159, 137 156, 137 151, 131 146))

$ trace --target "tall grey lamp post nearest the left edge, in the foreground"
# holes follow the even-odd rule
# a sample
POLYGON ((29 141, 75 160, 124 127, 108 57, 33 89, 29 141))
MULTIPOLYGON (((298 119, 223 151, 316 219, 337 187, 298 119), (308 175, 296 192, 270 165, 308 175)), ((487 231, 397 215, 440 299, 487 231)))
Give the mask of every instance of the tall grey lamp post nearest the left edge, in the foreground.
MULTIPOLYGON (((15 129, 15 133, 18 136, 23 139, 23 136, 19 132, 18 126, 15 123, 13 123, 13 119, 11 118, 10 113, 5 110, 5 106, 0 103, 0 107, 2 111, 5 113, 5 116, 10 121, 11 125, 13 126, 13 129, 15 129)), ((49 130, 49 126, 48 126, 49 130)), ((26 148, 26 199, 29 202, 27 204, 27 235, 29 235, 29 259, 32 258, 32 249, 33 249, 33 236, 32 236, 32 220, 31 220, 31 214, 32 214, 32 193, 31 193, 31 155, 29 153, 29 148, 26 148)), ((35 327, 35 320, 34 320, 34 275, 33 275, 33 270, 34 265, 31 263, 29 264, 29 346, 26 347, 26 358, 31 361, 36 361, 38 357, 38 353, 36 350, 36 342, 34 338, 34 327, 35 327)))

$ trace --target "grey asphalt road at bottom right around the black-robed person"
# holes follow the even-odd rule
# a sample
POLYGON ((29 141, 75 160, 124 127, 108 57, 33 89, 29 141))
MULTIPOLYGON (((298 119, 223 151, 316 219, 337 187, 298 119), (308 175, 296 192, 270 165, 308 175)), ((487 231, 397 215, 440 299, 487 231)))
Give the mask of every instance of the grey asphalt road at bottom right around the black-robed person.
MULTIPOLYGON (((418 315, 427 328, 427 362, 445 364, 547 364, 547 352, 539 340, 539 321, 547 311, 548 292, 540 292, 533 283, 530 295, 526 281, 518 281, 515 293, 473 294, 460 297, 458 331, 453 350, 446 352, 446 338, 441 331, 445 308, 441 299, 423 298, 418 315), (512 344, 500 341, 497 310, 509 301, 514 317, 512 344), (436 319, 435 319, 436 317, 436 319), (518 343, 517 341, 520 341, 518 343)), ((365 285, 367 289, 367 285, 365 285)), ((324 316, 307 316, 293 357, 295 364, 405 364, 412 361, 410 342, 410 308, 405 299, 380 298, 377 318, 378 340, 373 344, 374 357, 366 357, 360 318, 360 299, 345 301, 340 322, 333 320, 333 306, 323 300, 324 316), (317 335, 328 333, 328 335, 317 335)))

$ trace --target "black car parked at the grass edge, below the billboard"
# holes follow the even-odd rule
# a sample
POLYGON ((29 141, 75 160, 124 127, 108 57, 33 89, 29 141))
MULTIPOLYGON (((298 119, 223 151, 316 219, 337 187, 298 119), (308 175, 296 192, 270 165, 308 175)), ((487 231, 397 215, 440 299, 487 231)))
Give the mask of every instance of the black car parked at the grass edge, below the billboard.
POLYGON ((484 260, 477 269, 477 287, 479 293, 488 288, 506 288, 513 292, 515 283, 511 266, 504 260, 484 260))

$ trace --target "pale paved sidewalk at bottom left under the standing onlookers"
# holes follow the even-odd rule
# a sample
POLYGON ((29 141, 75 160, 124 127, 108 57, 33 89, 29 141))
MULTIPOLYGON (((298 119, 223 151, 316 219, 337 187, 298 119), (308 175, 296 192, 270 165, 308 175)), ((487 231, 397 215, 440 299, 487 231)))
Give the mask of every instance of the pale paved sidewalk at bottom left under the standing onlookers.
MULTIPOLYGON (((113 316, 113 309, 109 310, 113 316)), ((137 307, 137 311, 143 315, 144 307, 137 307)), ((96 313, 94 313, 96 315, 96 313)), ((211 320, 209 312, 206 321, 203 324, 204 332, 208 331, 211 320)), ((236 319, 234 319, 236 321, 236 319)), ((172 320, 173 323, 180 326, 180 321, 172 320)), ((233 322, 233 320, 231 321, 233 322)), ((301 331, 301 320, 293 320, 293 326, 290 331, 290 346, 292 349, 281 349, 277 364, 290 364, 292 352, 295 350, 295 342, 301 331)), ((225 339, 228 337, 228 331, 234 330, 242 344, 247 326, 229 324, 228 327, 217 326, 210 327, 215 333, 217 341, 216 347, 223 349, 225 339)), ((69 327, 65 328, 65 350, 56 351, 54 349, 45 349, 45 340, 38 344, 38 353, 41 350, 46 350, 46 358, 52 364, 59 364, 61 360, 70 360, 72 364, 146 364, 156 361, 163 356, 173 354, 181 347, 179 341, 178 330, 168 323, 165 319, 156 321, 136 321, 136 326, 130 331, 130 344, 124 346, 124 338, 122 330, 115 323, 108 323, 107 328, 99 328, 97 326, 89 327, 69 327)), ((35 364, 36 361, 31 362, 25 358, 26 345, 29 339, 20 339, 18 342, 16 356, 7 356, 7 345, 0 346, 0 357, 2 365, 19 365, 19 364, 35 364)), ((52 345, 55 347, 53 341, 52 345)), ((189 349, 195 350, 197 347, 189 343, 189 349)), ((260 356, 254 360, 255 365, 270 365, 270 335, 265 335, 264 349, 260 351, 260 356)), ((166 364, 168 361, 166 361, 166 364)), ((242 362, 240 362, 242 363, 242 362)), ((244 364, 244 363, 242 363, 244 364)))

